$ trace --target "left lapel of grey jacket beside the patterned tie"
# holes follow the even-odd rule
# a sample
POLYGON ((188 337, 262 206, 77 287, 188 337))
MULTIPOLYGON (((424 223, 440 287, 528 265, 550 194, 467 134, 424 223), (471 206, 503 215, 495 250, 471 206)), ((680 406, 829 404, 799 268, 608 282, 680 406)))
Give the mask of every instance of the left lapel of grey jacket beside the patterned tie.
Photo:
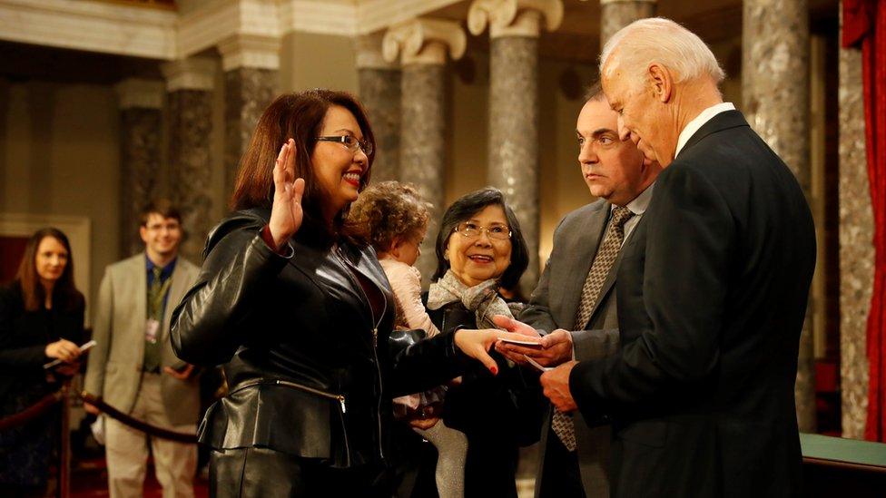
POLYGON ((561 291, 563 292, 563 306, 560 311, 560 319, 557 323, 564 324, 566 330, 572 330, 576 327, 576 313, 578 312, 578 302, 581 299, 582 288, 585 287, 587 273, 591 270, 594 263, 596 249, 603 239, 606 226, 606 220, 609 219, 609 210, 612 205, 606 202, 600 210, 592 213, 583 220, 582 224, 576 229, 576 238, 572 239, 569 247, 566 248, 566 257, 573 257, 567 268, 569 271, 565 281, 563 281, 561 291))

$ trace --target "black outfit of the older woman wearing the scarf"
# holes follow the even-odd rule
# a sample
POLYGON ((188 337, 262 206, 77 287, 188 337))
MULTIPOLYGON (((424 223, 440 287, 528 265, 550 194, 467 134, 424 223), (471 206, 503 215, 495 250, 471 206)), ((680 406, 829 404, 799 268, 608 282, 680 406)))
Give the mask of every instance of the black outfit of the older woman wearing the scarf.
MULTIPOLYGON (((427 301, 427 293, 423 296, 427 301)), ((442 335, 459 328, 477 328, 473 311, 461 303, 451 303, 428 316, 442 335)), ((465 462, 465 496, 517 497, 518 448, 538 441, 543 414, 543 395, 535 372, 509 365, 494 350, 498 375, 492 376, 483 366, 471 366, 459 386, 449 387, 443 403, 442 418, 448 427, 468 436, 468 457, 465 462)), ((417 438, 402 431, 399 436, 417 438)), ((418 453, 402 460, 412 460, 417 472, 409 495, 437 496, 434 469, 437 451, 431 444, 402 444, 418 453)), ((409 464, 409 462, 407 462, 409 464)), ((409 465, 407 465, 409 466, 409 465)), ((411 480, 410 477, 406 478, 411 480)), ((403 486, 400 487, 402 491, 403 486)), ((403 493, 401 493, 403 494, 403 493)))

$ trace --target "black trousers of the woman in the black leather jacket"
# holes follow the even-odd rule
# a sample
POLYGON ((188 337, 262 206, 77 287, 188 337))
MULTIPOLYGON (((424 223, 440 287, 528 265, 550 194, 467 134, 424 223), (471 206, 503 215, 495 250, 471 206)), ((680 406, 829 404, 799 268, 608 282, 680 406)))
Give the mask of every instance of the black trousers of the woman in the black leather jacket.
POLYGON ((209 493, 222 498, 389 497, 381 471, 332 468, 268 448, 212 450, 209 493))

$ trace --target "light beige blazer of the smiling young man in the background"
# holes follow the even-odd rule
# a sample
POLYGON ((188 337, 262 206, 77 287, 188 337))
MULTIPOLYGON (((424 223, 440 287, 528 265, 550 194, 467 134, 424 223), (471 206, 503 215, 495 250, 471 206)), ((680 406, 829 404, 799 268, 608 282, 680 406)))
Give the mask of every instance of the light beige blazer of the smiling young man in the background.
MULTIPOLYGON (((198 271, 182 257, 175 262, 160 331, 162 398, 172 425, 196 424, 199 416, 197 379, 182 381, 162 372, 164 366, 184 366, 172 352, 169 322, 172 309, 191 288, 198 271)), ((102 396, 105 403, 126 414, 133 410, 142 381, 147 285, 144 253, 113 263, 104 272, 95 308, 93 338, 97 344, 89 352, 84 390, 102 396)))

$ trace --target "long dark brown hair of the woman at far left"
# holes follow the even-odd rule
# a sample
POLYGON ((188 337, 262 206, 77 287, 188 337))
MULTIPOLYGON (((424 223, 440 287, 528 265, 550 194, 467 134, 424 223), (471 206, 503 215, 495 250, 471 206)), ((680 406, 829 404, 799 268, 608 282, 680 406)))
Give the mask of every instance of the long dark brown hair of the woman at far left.
POLYGON ((71 253, 71 244, 62 230, 52 227, 39 229, 28 239, 25 245, 25 255, 18 264, 18 272, 15 281, 22 289, 22 298, 25 300, 27 311, 36 311, 43 308, 46 299, 46 291, 40 283, 37 275, 37 249, 40 242, 47 237, 56 239, 68 251, 68 261, 62 270, 62 276, 55 282, 53 288, 53 307, 60 309, 73 309, 78 307, 84 300, 83 294, 74 287, 74 256, 71 253))

